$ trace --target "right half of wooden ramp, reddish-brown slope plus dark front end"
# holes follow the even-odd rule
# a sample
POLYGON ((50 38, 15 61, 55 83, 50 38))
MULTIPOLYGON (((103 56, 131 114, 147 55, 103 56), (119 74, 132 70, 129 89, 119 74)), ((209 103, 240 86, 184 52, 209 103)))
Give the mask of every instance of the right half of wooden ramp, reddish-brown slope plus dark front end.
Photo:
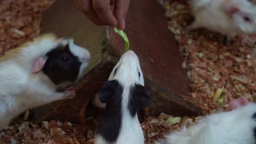
MULTIPOLYGON (((108 31, 112 52, 120 56, 124 52, 124 40, 112 28, 108 31)), ((183 59, 174 34, 167 29, 162 6, 157 1, 131 1, 125 32, 130 49, 139 56, 148 86, 152 91, 155 89, 148 111, 154 116, 161 112, 177 116, 200 113, 197 107, 182 99, 190 97, 189 80, 182 68, 183 59)))

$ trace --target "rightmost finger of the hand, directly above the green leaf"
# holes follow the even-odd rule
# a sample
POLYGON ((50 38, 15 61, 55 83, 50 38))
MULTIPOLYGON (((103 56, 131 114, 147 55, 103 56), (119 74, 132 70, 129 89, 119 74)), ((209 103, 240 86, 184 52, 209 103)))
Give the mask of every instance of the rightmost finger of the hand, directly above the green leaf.
POLYGON ((117 19, 117 27, 125 28, 125 17, 130 7, 130 0, 115 0, 114 16, 117 19))

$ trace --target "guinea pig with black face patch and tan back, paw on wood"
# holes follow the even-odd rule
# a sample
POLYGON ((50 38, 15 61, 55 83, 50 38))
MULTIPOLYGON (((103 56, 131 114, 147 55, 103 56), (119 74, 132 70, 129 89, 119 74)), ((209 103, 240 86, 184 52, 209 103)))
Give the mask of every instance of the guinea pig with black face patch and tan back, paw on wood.
POLYGON ((57 92, 79 80, 90 59, 73 39, 44 34, 0 58, 0 128, 32 107, 73 98, 74 89, 57 92))

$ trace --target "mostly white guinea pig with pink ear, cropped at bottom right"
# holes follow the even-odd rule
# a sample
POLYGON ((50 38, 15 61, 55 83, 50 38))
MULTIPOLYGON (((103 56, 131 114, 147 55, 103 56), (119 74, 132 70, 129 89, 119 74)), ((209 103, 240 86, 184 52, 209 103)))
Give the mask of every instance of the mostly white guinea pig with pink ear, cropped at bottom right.
POLYGON ((188 129, 165 136, 160 143, 255 144, 256 104, 241 97, 231 101, 230 107, 232 111, 206 116, 188 129))

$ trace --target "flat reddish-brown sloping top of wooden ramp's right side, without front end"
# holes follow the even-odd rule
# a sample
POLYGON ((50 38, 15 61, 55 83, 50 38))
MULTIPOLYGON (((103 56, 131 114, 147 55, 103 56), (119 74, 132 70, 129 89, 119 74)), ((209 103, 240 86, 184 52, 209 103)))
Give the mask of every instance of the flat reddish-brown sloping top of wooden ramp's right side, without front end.
MULTIPOLYGON (((188 78, 174 35, 167 29, 164 9, 157 1, 132 1, 125 32, 141 61, 144 77, 177 95, 189 94, 188 78), (159 6, 159 7, 158 7, 159 6)), ((124 52, 124 40, 110 28, 114 50, 124 52)))

